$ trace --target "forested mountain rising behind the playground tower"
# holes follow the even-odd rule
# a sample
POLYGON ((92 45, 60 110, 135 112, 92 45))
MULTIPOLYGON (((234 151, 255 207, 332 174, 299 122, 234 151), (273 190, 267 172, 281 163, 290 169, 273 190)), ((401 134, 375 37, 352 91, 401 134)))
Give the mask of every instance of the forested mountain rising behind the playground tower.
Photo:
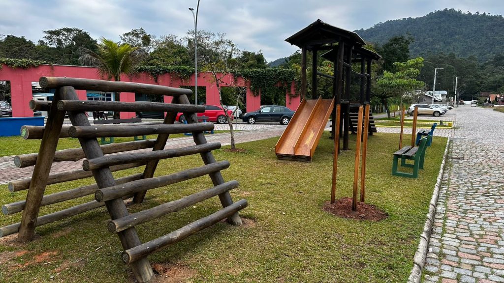
POLYGON ((435 11, 419 18, 403 18, 379 23, 358 33, 366 42, 384 44, 396 35, 411 35, 410 55, 428 56, 454 53, 475 56, 480 62, 502 52, 504 18, 501 15, 463 13, 455 9, 435 11))

